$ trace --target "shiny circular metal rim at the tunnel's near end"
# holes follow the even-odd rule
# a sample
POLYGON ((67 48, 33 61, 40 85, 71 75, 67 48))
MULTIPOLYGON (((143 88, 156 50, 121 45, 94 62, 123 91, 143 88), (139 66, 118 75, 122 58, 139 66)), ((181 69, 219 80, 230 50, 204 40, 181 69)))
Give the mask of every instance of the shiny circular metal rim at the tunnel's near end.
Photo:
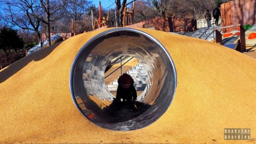
MULTIPOLYGON (((168 60, 169 60, 169 62, 170 62, 170 64, 171 64, 170 66, 171 66, 172 69, 173 69, 174 89, 173 89, 172 99, 171 99, 171 101, 170 101, 170 103, 169 103, 169 106, 168 106, 168 108, 166 109, 166 111, 163 112, 162 115, 164 115, 164 114, 167 112, 167 110, 169 109, 169 107, 171 106, 172 101, 173 101, 174 96, 175 96, 176 89, 177 89, 177 71, 176 71, 176 67, 175 67, 175 65, 174 65, 174 62, 173 62, 173 60, 172 60, 172 57, 170 56, 170 54, 169 54, 169 52, 167 51, 167 49, 163 46, 163 44, 160 43, 160 41, 157 40, 155 37, 149 35, 149 34, 146 33, 146 32, 140 31, 140 30, 138 30, 138 29, 131 29, 131 28, 115 28, 115 29, 107 30, 107 31, 105 31, 105 32, 101 32, 101 33, 97 34, 96 36, 90 38, 90 40, 88 40, 88 41, 81 47, 81 49, 79 50, 79 52, 77 52, 77 54, 76 54, 76 56, 75 56, 75 58, 74 58, 74 60, 73 60, 73 63, 72 63, 72 65, 71 65, 70 80, 69 80, 70 93, 71 93, 71 98, 72 98, 72 100, 73 100, 73 103, 75 104, 76 108, 79 110, 79 112, 81 113, 81 115, 83 115, 84 118, 86 118, 87 120, 89 120, 90 122, 92 122, 94 125, 96 125, 96 126, 98 126, 98 127, 101 127, 101 128, 103 128, 103 129, 107 129, 107 130, 112 130, 112 129, 108 129, 108 128, 106 128, 106 127, 102 127, 102 126, 100 126, 100 125, 94 123, 90 118, 87 118, 87 116, 84 114, 84 112, 82 111, 82 109, 79 107, 79 104, 78 104, 77 101, 76 101, 76 97, 75 97, 74 90, 73 90, 73 75, 74 75, 74 70, 75 70, 76 64, 78 63, 78 60, 79 60, 79 58, 80 58, 81 53, 82 53, 88 46, 90 46, 91 43, 93 43, 94 41, 96 41, 96 40, 99 39, 100 37, 105 36, 105 35, 108 35, 108 34, 110 34, 110 33, 114 33, 114 32, 134 32, 134 33, 143 35, 143 36, 145 36, 145 37, 148 37, 148 38, 150 38, 153 42, 155 42, 155 43, 164 51, 164 53, 166 54, 166 56, 167 56, 167 58, 168 58, 168 60)), ((162 116, 162 115, 161 115, 161 116, 162 116)), ((157 119, 159 119, 159 118, 157 118, 157 119)), ((157 119, 156 119, 155 121, 157 121, 157 119)), ((154 121, 154 122, 155 122, 155 121, 154 121)), ((154 122, 153 122, 153 123, 154 123, 154 122)), ((151 124, 153 124, 153 123, 151 123, 151 124)), ((148 124, 147 126, 149 126, 149 125, 150 125, 150 124, 148 124)), ((145 127, 147 127, 147 126, 145 126, 145 127)), ((142 127, 142 128, 144 128, 144 127, 142 127)), ((140 128, 140 129, 142 129, 142 128, 140 128)), ((140 130, 140 129, 136 129, 136 130, 140 130)), ((112 131, 127 131, 127 130, 112 130, 112 131)), ((131 131, 131 130, 128 130, 128 131, 131 131)))

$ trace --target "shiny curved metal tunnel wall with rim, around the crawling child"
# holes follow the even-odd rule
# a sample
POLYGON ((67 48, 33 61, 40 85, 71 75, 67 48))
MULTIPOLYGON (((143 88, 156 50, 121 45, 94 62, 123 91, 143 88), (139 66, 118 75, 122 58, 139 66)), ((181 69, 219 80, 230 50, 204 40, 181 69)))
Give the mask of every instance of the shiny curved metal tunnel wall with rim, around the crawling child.
POLYGON ((160 118, 172 102, 176 85, 176 69, 163 45, 145 32, 128 28, 111 29, 90 39, 70 72, 70 92, 82 115, 117 131, 141 129, 160 118), (150 77, 151 86, 137 97, 137 109, 116 104, 104 83, 106 66, 121 55, 137 58, 150 77))

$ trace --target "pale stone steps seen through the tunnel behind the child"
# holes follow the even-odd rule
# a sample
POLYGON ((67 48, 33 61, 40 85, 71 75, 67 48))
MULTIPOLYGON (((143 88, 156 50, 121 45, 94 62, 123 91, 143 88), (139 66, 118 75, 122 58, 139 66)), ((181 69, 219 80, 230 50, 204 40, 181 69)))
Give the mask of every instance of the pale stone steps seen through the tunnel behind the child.
MULTIPOLYGON (((136 66, 133 66, 132 69, 129 69, 126 73, 131 75, 131 77, 134 79, 134 87, 136 90, 144 90, 151 85, 147 71, 142 63, 138 63, 136 66)), ((111 82, 110 85, 107 85, 110 92, 116 92, 118 87, 117 81, 118 78, 111 82)))

